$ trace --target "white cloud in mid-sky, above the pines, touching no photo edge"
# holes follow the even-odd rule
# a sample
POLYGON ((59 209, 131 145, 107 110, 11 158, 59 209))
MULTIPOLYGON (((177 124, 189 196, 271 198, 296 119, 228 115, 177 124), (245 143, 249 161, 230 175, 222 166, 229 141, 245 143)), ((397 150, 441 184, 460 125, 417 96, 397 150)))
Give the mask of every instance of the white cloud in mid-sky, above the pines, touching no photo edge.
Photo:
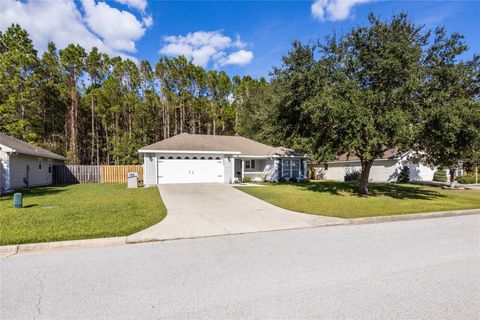
POLYGON ((160 53, 169 56, 185 56, 196 65, 206 67, 210 61, 215 65, 244 65, 253 58, 251 51, 243 50, 246 46, 240 36, 232 38, 219 31, 197 31, 187 35, 166 36, 165 45, 160 53), (237 49, 242 49, 235 51, 237 49))

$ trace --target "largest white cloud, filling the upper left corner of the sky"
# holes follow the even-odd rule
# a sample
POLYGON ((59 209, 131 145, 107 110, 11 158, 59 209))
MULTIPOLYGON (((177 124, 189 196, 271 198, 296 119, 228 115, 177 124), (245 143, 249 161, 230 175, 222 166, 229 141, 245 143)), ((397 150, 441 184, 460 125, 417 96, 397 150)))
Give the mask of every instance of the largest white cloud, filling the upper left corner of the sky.
POLYGON ((130 53, 148 27, 128 11, 94 0, 82 0, 84 13, 74 0, 0 1, 0 30, 20 24, 40 52, 53 41, 60 49, 78 43, 86 50, 95 46, 109 55, 135 59, 130 53))

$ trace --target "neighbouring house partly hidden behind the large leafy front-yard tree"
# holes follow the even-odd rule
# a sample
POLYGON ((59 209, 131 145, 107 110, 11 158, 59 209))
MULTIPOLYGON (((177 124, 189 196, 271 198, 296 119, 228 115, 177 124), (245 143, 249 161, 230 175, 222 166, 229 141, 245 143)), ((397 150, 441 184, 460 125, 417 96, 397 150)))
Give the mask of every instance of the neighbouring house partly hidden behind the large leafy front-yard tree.
MULTIPOLYGON (((410 181, 432 181, 435 170, 422 163, 411 160, 413 151, 399 153, 396 148, 388 149, 383 156, 373 162, 370 169, 370 181, 395 182, 404 166, 410 169, 410 181)), ((321 174, 327 180, 344 181, 345 174, 361 171, 360 159, 348 154, 342 154, 334 161, 322 166, 321 174)))

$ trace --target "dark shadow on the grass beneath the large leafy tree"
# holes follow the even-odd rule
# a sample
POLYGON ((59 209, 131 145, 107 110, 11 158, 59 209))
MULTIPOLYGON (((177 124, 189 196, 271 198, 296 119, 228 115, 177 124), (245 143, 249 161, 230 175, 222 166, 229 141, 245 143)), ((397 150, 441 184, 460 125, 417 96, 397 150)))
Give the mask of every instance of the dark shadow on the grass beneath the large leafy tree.
MULTIPOLYGON (((330 193, 332 195, 342 196, 345 193, 351 195, 358 194, 359 184, 356 182, 334 182, 322 181, 311 183, 297 183, 298 188, 314 192, 330 193)), ((396 183, 369 183, 369 195, 367 197, 390 197, 395 199, 418 199, 433 200, 445 197, 445 195, 431 189, 423 187, 396 184, 396 183)), ((364 196, 363 196, 364 197, 364 196)))

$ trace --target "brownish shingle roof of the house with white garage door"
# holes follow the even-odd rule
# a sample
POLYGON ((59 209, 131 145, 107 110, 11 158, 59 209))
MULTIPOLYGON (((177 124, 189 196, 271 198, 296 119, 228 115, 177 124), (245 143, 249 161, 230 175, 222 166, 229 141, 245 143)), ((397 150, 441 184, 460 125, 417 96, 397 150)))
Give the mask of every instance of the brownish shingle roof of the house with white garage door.
POLYGON ((241 136, 218 136, 181 133, 171 138, 143 147, 140 152, 148 151, 200 151, 231 152, 249 156, 299 155, 295 151, 282 147, 272 147, 241 136))

